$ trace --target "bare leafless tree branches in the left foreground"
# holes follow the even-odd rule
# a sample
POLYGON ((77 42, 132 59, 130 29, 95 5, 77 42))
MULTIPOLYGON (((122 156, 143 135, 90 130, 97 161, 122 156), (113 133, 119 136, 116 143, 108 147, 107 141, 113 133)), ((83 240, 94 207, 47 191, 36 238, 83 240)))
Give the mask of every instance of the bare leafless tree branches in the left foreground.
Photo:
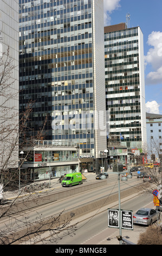
MULTIPOLYGON (((15 79, 12 78, 15 69, 8 48, 8 51, 3 53, 0 58, 0 184, 4 184, 4 190, 7 190, 9 185, 14 185, 17 191, 20 168, 24 161, 30 157, 30 154, 33 154, 32 150, 36 141, 42 140, 46 136, 44 127, 47 118, 44 119, 42 129, 35 136, 26 136, 27 132, 31 131, 27 123, 30 120, 34 101, 30 101, 25 110, 19 113, 17 104, 19 91, 15 86, 15 79), (15 105, 11 105, 11 102, 14 102, 15 105), (18 151, 22 150, 24 146, 28 150, 25 152, 23 160, 18 163, 18 159, 20 159, 18 151)), ((1 244, 22 243, 22 241, 30 243, 34 237, 41 239, 42 234, 47 231, 50 232, 48 239, 56 242, 56 236, 61 232, 71 234, 76 230, 76 225, 70 225, 73 216, 61 221, 63 212, 58 216, 50 216, 46 220, 37 214, 35 221, 28 221, 29 199, 31 202, 31 199, 37 200, 38 197, 36 193, 32 197, 30 193, 25 198, 20 198, 20 196, 18 194, 7 205, 0 205, 1 225, 2 223, 8 223, 8 221, 12 223, 11 226, 5 224, 5 227, 1 228, 1 244), (27 205, 28 207, 25 207, 27 205), (20 219, 20 216, 23 218, 20 219), (16 229, 13 229, 13 225, 16 229)))

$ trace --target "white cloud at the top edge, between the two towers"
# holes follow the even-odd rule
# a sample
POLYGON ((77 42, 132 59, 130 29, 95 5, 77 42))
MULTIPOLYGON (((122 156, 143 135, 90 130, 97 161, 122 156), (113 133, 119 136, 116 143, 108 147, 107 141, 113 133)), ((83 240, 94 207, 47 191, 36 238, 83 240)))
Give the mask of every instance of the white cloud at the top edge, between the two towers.
POLYGON ((120 0, 103 0, 104 4, 104 23, 105 26, 111 25, 111 13, 112 11, 120 7, 120 0))

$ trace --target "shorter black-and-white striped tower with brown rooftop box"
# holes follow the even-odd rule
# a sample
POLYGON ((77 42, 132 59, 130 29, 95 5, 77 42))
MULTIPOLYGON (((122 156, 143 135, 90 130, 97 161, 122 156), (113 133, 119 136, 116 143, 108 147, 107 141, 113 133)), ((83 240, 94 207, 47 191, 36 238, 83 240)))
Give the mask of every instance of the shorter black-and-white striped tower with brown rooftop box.
POLYGON ((108 145, 120 144, 128 154, 147 147, 143 36, 125 23, 105 27, 106 109, 108 145))

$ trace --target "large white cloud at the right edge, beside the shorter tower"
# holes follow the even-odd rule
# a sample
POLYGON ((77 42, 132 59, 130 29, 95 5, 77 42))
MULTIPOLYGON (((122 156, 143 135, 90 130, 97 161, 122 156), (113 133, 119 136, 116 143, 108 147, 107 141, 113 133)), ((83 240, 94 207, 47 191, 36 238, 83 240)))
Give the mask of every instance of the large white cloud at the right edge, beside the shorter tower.
POLYGON ((162 79, 162 32, 153 31, 147 44, 152 46, 145 56, 145 66, 150 64, 153 71, 148 73, 146 84, 158 84, 162 79))

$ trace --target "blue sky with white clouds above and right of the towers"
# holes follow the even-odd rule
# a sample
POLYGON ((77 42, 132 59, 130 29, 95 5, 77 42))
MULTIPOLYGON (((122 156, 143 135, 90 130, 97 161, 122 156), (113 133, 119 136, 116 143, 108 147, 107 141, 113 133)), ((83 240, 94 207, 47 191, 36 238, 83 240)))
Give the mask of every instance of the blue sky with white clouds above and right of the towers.
POLYGON ((162 1, 103 0, 105 26, 126 22, 144 35, 146 111, 162 114, 162 1))

